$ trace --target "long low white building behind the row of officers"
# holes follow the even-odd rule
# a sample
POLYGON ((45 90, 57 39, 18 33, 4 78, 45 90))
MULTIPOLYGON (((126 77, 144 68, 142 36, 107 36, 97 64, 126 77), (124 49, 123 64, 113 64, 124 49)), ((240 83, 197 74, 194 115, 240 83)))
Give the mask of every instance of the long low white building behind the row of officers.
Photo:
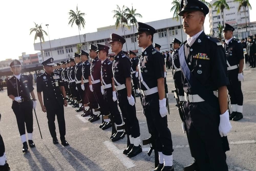
MULTIPOLYGON (((183 36, 183 41, 186 40, 187 35, 184 33, 183 29, 181 29, 180 26, 180 21, 173 19, 173 18, 167 18, 163 20, 157 20, 157 21, 151 21, 147 22, 146 24, 154 27, 157 30, 157 33, 154 34, 154 42, 159 45, 161 45, 161 50, 160 51, 167 51, 172 49, 172 41, 174 38, 182 41, 182 36, 183 36)), ((134 26, 134 32, 136 32, 136 25, 134 26)), ((126 43, 123 46, 123 51, 128 51, 132 50, 136 52, 138 55, 141 54, 141 48, 138 47, 137 44, 137 37, 133 35, 133 26, 131 26, 130 29, 124 28, 122 30, 121 27, 116 29, 116 26, 108 26, 108 27, 102 27, 98 28, 97 32, 93 33, 85 33, 81 34, 81 43, 83 44, 82 49, 83 50, 88 50, 90 44, 96 45, 97 43, 99 44, 104 44, 109 46, 108 42, 110 41, 110 34, 111 33, 116 33, 119 35, 122 35, 124 37, 125 33, 125 40, 126 43), (126 49, 127 45, 127 49, 126 49)), ((51 52, 52 51, 52 57, 54 60, 60 60, 60 59, 65 59, 68 57, 72 57, 74 52, 77 51, 76 45, 80 43, 79 40, 79 35, 76 36, 71 36, 67 38, 61 38, 61 39, 55 39, 55 40, 50 40, 43 42, 42 43, 42 50, 44 54, 44 60, 48 59, 51 57, 51 52), (51 50, 50 50, 50 43, 51 43, 51 50)), ((34 49, 36 51, 41 50, 40 43, 35 43, 34 44, 34 49)), ((111 50, 109 50, 109 54, 113 54, 111 50)), ((39 58, 39 63, 42 62, 42 58, 39 58)))

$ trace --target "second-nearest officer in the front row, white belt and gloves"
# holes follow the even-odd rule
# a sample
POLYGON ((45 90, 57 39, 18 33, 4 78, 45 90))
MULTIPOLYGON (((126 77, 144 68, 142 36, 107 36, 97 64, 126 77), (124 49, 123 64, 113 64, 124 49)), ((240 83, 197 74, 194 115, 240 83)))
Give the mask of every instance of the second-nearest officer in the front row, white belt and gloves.
POLYGON ((156 30, 144 23, 137 23, 138 46, 142 47, 139 62, 139 79, 142 107, 148 128, 153 134, 159 155, 159 165, 154 170, 174 170, 172 136, 167 127, 167 108, 164 90, 164 60, 153 47, 156 30))

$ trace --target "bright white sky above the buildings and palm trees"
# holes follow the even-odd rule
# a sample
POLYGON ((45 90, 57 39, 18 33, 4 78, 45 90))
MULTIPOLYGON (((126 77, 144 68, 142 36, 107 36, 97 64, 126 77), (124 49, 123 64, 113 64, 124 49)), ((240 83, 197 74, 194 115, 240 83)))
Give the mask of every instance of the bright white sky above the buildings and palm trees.
MULTIPOLYGON (((211 0, 206 0, 210 2, 211 0)), ((256 8, 256 1, 249 0, 252 8, 256 8)), ((78 9, 86 14, 84 19, 86 25, 81 29, 80 33, 89 33, 97 31, 99 27, 105 27, 115 24, 113 19, 114 13, 112 10, 116 9, 116 5, 122 7, 123 5, 129 8, 137 9, 137 13, 142 15, 142 18, 137 18, 141 22, 150 22, 165 18, 171 18, 173 13, 170 13, 172 7, 172 0, 161 1, 66 1, 66 0, 25 0, 25 1, 2 1, 0 6, 1 13, 1 31, 0 31, 0 47, 2 49, 2 56, 0 60, 6 58, 18 58, 22 52, 26 54, 36 53, 34 51, 34 36, 29 35, 29 29, 35 25, 42 23, 43 30, 47 31, 46 24, 49 24, 50 39, 65 38, 68 36, 78 35, 78 28, 76 25, 71 28, 68 25, 68 12, 70 9, 78 9), (155 3, 157 2, 157 3, 155 3)), ((252 11, 255 11, 252 10, 252 11)), ((251 21, 256 21, 256 16, 250 11, 251 21)), ((254 13, 255 14, 255 13, 254 13)), ((207 15, 205 21, 205 32, 210 33, 209 17, 207 15)), ((44 36, 45 41, 48 41, 48 36, 44 36)), ((36 40, 39 42, 39 39, 36 40)))

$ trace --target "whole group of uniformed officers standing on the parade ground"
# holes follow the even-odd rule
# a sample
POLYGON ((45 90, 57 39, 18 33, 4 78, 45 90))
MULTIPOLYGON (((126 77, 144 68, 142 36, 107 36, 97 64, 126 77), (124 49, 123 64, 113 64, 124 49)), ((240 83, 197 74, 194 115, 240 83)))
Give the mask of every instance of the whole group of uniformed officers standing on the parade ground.
MULTIPOLYGON (((91 44, 89 53, 81 50, 80 54, 74 53, 72 58, 57 65, 53 58, 42 62, 45 72, 36 80, 38 101, 42 111, 47 113, 54 144, 58 143, 55 131, 57 115, 61 144, 69 145, 65 139, 63 105, 70 104, 77 112, 83 111, 83 117, 90 116, 90 122, 99 120, 102 115, 99 128, 112 128, 110 139, 113 142, 127 135, 127 148, 123 154, 128 157, 138 155, 142 147, 135 97, 140 97, 151 135, 143 145, 148 142, 155 151, 153 170, 174 171, 174 150, 167 125, 167 67, 172 69, 182 130, 195 158, 194 163, 184 168, 193 171, 228 170, 225 152, 229 150, 227 134, 232 128, 229 120, 243 118, 241 81, 245 45, 233 38, 234 28, 228 24, 223 25, 223 44, 204 33, 204 19, 209 13, 204 3, 182 0, 180 6, 179 15, 183 17, 184 31, 188 36, 184 43, 174 38, 173 51, 161 53, 161 45, 154 43, 153 46, 156 30, 138 22, 135 34, 138 35, 138 46, 142 48, 139 58, 133 51, 122 51, 125 39, 112 33, 109 44, 114 56, 108 58, 109 46, 91 44)), ((250 37, 246 47, 248 61, 255 67, 255 40, 250 37)), ((35 146, 32 140, 32 109, 36 108, 34 88, 29 77, 20 74, 18 60, 14 60, 10 67, 14 76, 7 81, 7 93, 13 99, 12 109, 23 143, 22 151, 27 152, 25 123, 29 146, 35 146)), ((5 168, 8 165, 4 151, 0 165, 5 168)))

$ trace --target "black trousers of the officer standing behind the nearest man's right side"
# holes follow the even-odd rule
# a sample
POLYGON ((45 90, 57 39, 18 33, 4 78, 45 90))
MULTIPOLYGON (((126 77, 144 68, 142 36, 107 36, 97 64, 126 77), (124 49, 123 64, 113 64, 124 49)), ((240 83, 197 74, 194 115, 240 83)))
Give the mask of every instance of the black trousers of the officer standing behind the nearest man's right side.
POLYGON ((228 71, 229 85, 227 86, 231 104, 243 105, 241 81, 238 80, 238 68, 228 71))

